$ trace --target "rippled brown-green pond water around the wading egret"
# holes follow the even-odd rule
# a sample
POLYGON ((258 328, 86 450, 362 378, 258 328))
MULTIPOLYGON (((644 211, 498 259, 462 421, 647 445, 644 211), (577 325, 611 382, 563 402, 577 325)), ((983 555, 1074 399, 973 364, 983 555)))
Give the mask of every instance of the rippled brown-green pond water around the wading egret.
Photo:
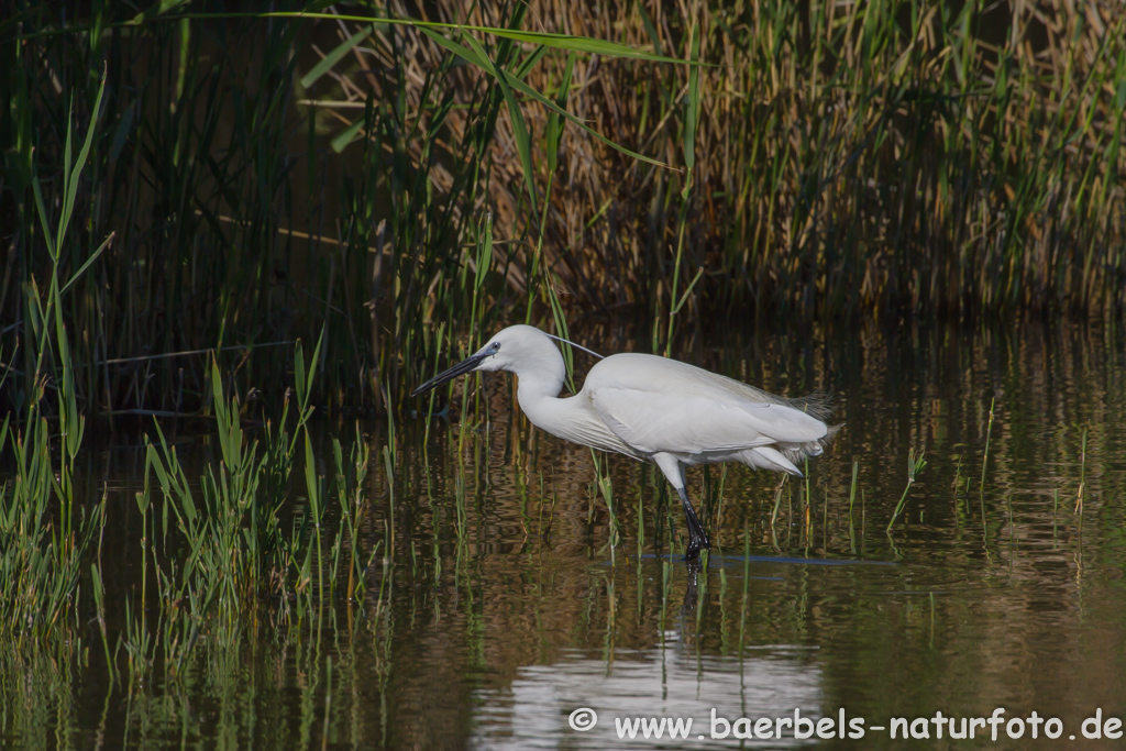
MULTIPOLYGON (((574 338, 644 349, 610 330, 574 338)), ((681 345, 680 359, 776 393, 829 388, 843 426, 780 490, 741 466, 689 471, 706 569, 682 561, 679 503, 653 467, 537 431, 511 378, 491 375, 464 420, 400 419, 393 454, 386 423, 364 426, 365 542, 391 555, 363 601, 205 635, 176 681, 110 681, 93 631, 69 656, 0 661, 0 745, 1121 748, 1121 329, 841 325, 681 345), (909 488, 912 452, 926 465, 909 488), (619 740, 661 718, 661 739, 634 725, 619 740)), ((322 428, 328 467, 328 436, 352 429, 322 428)), ((140 575, 144 459, 135 439, 92 456, 113 613, 140 575)))

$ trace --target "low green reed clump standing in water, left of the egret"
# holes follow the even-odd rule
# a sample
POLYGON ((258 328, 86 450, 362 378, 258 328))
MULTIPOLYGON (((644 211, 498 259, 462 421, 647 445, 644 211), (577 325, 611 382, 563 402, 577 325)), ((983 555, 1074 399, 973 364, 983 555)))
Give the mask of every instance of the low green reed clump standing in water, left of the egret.
MULTIPOLYGON (((212 641, 230 643, 244 627, 257 627, 260 598, 282 597, 284 619, 302 620, 329 592, 324 583, 322 537, 325 513, 323 481, 315 475, 307 422, 311 374, 320 355, 318 346, 306 360, 301 342, 295 351, 296 417, 289 432, 291 400, 283 404, 280 419, 262 430, 262 445, 250 439, 242 428, 240 405, 223 388, 223 374, 213 363, 211 382, 215 435, 220 448, 217 466, 206 467, 198 490, 193 489, 175 446, 169 446, 163 430, 154 426, 155 442, 146 438, 144 488, 137 495, 142 513, 143 546, 140 608, 127 601, 125 628, 119 645, 127 655, 131 683, 163 664, 164 676, 177 678, 185 660, 204 633, 212 641), (304 449, 306 499, 302 513, 289 534, 283 529, 283 506, 288 499, 289 477, 298 444, 304 449), (154 482, 153 482, 154 481, 154 482), (175 521, 175 533, 157 533, 152 513, 153 492, 163 500, 162 524, 175 521), (149 560, 151 551, 151 561, 149 560), (315 567, 315 572, 313 569, 315 567), (149 572, 157 591, 155 624, 149 623, 146 607, 149 572), (314 585, 315 581, 315 585, 314 585), (296 596, 291 611, 287 596, 296 596)), ((366 448, 352 450, 354 462, 366 462, 366 448)), ((330 549, 339 551, 351 510, 361 509, 361 495, 352 495, 352 477, 363 479, 365 468, 354 468, 351 476, 337 481, 337 492, 347 519, 330 549), (355 499, 355 501, 352 500, 355 499)), ((348 576, 348 593, 363 588, 356 581, 358 551, 355 537, 348 576)), ((337 558, 338 560, 338 558, 337 558)), ((361 575, 361 572, 360 572, 361 575)), ((108 647, 107 647, 108 654, 108 647)), ((113 667, 113 663, 110 663, 113 667)))

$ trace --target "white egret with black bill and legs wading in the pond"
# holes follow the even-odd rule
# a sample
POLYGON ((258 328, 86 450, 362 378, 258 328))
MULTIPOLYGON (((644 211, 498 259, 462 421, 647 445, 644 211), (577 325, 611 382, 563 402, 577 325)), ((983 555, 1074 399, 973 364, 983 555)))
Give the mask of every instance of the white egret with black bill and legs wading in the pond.
MULTIPOLYGON (((589 351, 589 350, 588 350, 589 351)), ((655 355, 601 359, 582 390, 560 397, 566 366, 539 329, 513 325, 413 391, 473 370, 507 370, 534 426, 575 444, 656 464, 676 489, 688 526, 689 560, 711 548, 685 486, 685 466, 741 462, 801 476, 796 462, 819 456, 834 429, 823 397, 785 399, 687 363, 655 355)))

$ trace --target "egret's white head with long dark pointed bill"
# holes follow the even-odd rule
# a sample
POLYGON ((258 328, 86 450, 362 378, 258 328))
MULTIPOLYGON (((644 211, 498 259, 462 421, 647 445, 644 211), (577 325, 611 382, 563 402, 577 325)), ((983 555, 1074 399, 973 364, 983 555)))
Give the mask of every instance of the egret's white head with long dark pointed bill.
POLYGON ((547 334, 534 327, 513 325, 494 334, 484 347, 454 367, 427 381, 411 392, 411 396, 473 370, 508 370, 521 376, 521 384, 525 378, 534 379, 546 388, 554 386, 555 393, 566 374, 563 356, 547 334))

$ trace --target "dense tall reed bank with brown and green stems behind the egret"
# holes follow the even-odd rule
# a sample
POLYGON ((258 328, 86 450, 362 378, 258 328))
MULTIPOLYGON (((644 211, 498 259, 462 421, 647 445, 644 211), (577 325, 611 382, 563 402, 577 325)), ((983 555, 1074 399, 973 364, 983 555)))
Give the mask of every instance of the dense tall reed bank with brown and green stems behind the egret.
POLYGON ((17 6, 0 316, 18 325, 0 346, 28 367, 9 410, 35 387, 34 186, 60 205, 60 88, 97 124, 89 179, 66 188, 82 231, 59 248, 90 270, 62 307, 86 332, 74 395, 109 414, 203 408, 207 351, 233 393, 280 383, 288 345, 320 331, 318 401, 396 411, 453 342, 545 321, 555 288, 572 318, 636 311, 665 352, 716 313, 1126 304, 1126 20, 1101 8, 705 3, 653 25, 611 3, 602 39, 565 3, 378 25, 17 6))

